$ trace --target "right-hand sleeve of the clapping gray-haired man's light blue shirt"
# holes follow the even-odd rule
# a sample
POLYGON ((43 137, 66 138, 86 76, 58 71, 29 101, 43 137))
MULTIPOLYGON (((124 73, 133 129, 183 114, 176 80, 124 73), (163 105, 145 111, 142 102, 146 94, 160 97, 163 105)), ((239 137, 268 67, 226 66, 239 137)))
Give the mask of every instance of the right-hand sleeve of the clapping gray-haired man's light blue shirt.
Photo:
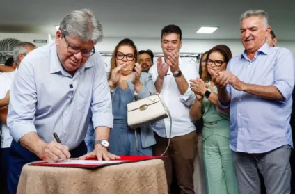
MULTIPOLYGON (((294 61, 292 52, 282 49, 274 69, 274 83, 285 99, 289 99, 294 88, 294 61)), ((286 102, 283 101, 283 102, 286 102)))

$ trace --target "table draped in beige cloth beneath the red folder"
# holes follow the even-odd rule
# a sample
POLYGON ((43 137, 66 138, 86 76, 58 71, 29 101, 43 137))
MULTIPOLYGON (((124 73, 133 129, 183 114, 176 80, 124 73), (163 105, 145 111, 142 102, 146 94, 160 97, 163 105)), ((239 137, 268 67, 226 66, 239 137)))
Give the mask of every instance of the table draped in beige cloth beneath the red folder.
POLYGON ((26 164, 17 194, 37 193, 166 194, 164 162, 152 159, 97 169, 26 164))

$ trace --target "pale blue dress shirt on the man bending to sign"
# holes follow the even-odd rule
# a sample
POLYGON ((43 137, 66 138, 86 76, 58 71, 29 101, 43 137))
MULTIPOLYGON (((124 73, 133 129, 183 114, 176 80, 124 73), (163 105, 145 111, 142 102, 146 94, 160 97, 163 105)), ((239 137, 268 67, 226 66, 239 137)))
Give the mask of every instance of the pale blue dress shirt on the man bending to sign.
POLYGON ((18 141, 36 132, 46 143, 56 132, 63 145, 77 147, 93 126, 113 127, 104 61, 93 54, 74 76, 63 69, 55 43, 31 51, 22 60, 10 90, 8 127, 18 141))

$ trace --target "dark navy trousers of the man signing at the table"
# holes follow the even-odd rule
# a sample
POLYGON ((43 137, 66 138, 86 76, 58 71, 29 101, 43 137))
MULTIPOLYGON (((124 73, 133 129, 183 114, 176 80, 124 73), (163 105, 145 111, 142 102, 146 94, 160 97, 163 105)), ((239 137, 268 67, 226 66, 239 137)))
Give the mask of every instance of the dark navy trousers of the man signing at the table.
MULTIPOLYGON (((87 153, 87 147, 83 141, 78 147, 70 151, 72 158, 77 158, 87 153)), ((8 165, 8 191, 10 194, 17 193, 17 184, 26 163, 40 161, 37 155, 13 140, 10 147, 10 163, 8 165)))

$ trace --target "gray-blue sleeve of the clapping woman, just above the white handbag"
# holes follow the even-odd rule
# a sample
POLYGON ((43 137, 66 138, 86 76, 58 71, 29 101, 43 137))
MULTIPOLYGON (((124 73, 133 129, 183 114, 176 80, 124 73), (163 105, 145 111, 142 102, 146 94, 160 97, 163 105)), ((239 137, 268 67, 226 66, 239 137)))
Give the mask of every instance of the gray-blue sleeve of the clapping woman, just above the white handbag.
POLYGON ((135 95, 136 99, 143 99, 145 97, 150 96, 150 92, 155 93, 156 88, 154 86, 154 82, 152 81, 152 75, 150 73, 143 73, 145 75, 145 79, 143 80, 143 87, 135 95))

